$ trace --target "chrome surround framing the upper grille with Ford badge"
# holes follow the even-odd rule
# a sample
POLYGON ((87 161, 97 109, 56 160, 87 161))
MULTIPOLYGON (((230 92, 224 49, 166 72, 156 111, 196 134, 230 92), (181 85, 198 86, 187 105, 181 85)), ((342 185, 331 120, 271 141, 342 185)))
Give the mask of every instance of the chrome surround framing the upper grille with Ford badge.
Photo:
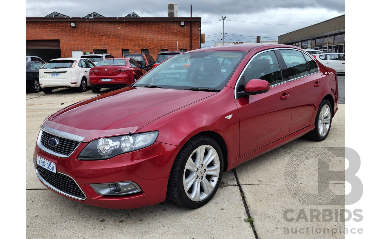
POLYGON ((56 153, 56 152, 54 152, 54 151, 52 151, 52 150, 50 150, 47 147, 44 147, 42 145, 41 136, 42 136, 43 131, 45 131, 47 133, 50 133, 52 135, 58 136, 58 137, 62 137, 62 138, 65 138, 65 139, 77 141, 77 142, 80 142, 80 143, 84 139, 84 137, 81 137, 81 136, 78 136, 78 135, 73 135, 73 134, 70 134, 70 133, 62 132, 60 130, 52 129, 52 128, 47 127, 47 126, 41 126, 39 136, 37 137, 37 143, 36 143, 37 147, 39 147, 39 149, 43 150, 44 152, 49 153, 50 155, 54 155, 54 156, 61 157, 61 158, 67 158, 67 157, 71 156, 72 153, 75 152, 75 150, 79 147, 80 143, 76 146, 76 148, 69 155, 62 155, 62 154, 56 153))

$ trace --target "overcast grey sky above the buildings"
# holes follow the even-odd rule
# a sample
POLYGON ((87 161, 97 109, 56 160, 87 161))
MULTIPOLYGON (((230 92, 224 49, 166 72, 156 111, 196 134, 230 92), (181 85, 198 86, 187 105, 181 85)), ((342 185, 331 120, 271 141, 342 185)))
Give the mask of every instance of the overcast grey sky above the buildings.
MULTIPOLYGON (((45 17, 56 11, 69 17, 84 17, 96 12, 105 17, 124 17, 136 13, 140 17, 167 17, 170 1, 122 0, 27 0, 26 17, 45 17)), ((201 33, 206 44, 278 40, 278 36, 345 14, 345 0, 202 0, 178 1, 178 17, 201 17, 201 33)))

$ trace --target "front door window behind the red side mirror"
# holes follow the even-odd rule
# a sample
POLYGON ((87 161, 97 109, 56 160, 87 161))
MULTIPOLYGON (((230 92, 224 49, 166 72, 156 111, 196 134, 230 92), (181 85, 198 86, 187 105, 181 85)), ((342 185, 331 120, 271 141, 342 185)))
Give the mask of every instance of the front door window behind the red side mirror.
MULTIPOLYGON (((224 63, 227 62, 224 61, 224 63)), ((237 84, 237 91, 243 91, 251 79, 266 80, 270 86, 282 82, 281 71, 274 51, 260 53, 253 58, 237 84)))

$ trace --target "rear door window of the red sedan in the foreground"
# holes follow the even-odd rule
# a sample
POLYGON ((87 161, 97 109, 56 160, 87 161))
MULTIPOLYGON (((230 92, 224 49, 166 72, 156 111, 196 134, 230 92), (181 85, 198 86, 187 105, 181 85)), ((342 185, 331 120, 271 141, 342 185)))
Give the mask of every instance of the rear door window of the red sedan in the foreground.
POLYGON ((283 60, 286 63, 287 69, 289 70, 290 79, 301 77, 309 74, 306 60, 304 59, 303 53, 297 50, 282 49, 280 50, 283 60))

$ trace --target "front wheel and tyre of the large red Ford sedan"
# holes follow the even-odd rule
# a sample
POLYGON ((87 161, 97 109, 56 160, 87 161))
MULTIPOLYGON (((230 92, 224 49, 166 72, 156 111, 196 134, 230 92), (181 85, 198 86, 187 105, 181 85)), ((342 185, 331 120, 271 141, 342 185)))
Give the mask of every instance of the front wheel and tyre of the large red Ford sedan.
POLYGON ((222 173, 223 154, 218 143, 205 135, 195 136, 174 161, 167 197, 185 208, 200 208, 215 195, 222 173))

